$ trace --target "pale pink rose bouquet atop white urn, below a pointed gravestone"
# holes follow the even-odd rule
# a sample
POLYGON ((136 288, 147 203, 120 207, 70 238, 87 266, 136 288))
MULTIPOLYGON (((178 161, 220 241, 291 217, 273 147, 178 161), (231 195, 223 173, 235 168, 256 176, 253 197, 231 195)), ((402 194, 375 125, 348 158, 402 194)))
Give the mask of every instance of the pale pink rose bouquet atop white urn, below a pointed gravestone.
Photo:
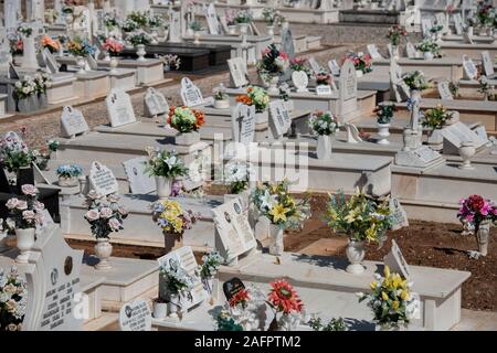
POLYGON ((97 239, 108 239, 113 232, 124 229, 123 221, 128 216, 128 211, 119 205, 119 196, 107 196, 91 190, 86 196, 87 212, 84 218, 89 223, 92 234, 97 239))

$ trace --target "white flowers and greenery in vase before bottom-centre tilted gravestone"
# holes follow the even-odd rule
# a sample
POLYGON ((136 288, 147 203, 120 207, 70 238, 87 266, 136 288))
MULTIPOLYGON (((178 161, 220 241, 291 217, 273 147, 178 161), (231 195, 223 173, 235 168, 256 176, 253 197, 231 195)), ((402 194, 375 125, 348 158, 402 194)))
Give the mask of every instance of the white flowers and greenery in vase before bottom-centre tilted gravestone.
POLYGON ((163 299, 168 303, 168 317, 178 318, 182 311, 181 298, 191 296, 194 279, 175 259, 161 265, 159 274, 166 282, 163 299))

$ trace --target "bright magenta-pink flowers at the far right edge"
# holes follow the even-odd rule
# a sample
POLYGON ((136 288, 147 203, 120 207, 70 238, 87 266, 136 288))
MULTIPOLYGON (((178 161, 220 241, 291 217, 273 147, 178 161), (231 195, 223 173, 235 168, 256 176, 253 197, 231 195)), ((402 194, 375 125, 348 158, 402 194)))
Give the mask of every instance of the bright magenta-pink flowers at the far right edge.
POLYGON ((480 195, 470 195, 467 199, 461 199, 461 208, 457 217, 463 223, 475 225, 476 228, 484 221, 497 221, 497 206, 489 200, 485 200, 480 195))

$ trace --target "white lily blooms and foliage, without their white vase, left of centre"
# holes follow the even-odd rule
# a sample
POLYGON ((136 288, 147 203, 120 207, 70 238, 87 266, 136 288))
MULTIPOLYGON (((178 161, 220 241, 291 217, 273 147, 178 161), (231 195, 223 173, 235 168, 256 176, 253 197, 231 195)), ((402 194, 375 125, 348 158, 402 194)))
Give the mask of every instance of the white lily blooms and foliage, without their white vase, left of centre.
POLYGON ((175 179, 187 174, 187 168, 176 151, 146 149, 148 159, 145 162, 145 172, 150 176, 165 176, 175 179))

